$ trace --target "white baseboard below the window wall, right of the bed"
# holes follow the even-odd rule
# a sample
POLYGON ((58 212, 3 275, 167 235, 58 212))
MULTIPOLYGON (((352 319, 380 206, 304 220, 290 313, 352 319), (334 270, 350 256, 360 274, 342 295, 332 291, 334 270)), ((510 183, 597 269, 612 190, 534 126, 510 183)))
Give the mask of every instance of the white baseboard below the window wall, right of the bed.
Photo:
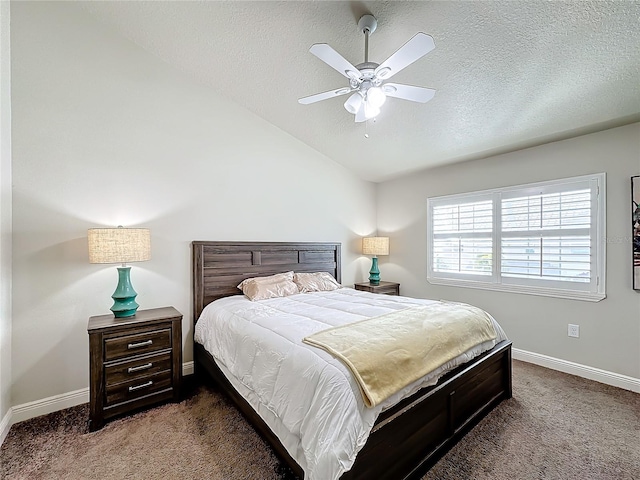
POLYGON ((558 370, 559 372, 569 373, 589 380, 595 380, 596 382, 604 383, 606 385, 612 385, 614 387, 640 393, 640 378, 628 377, 619 373, 613 373, 607 370, 601 370, 599 368, 561 360, 559 358, 548 357, 547 355, 542 355, 540 353, 527 352, 526 350, 520 350, 519 348, 513 348, 511 353, 515 360, 534 363, 541 367, 558 370))

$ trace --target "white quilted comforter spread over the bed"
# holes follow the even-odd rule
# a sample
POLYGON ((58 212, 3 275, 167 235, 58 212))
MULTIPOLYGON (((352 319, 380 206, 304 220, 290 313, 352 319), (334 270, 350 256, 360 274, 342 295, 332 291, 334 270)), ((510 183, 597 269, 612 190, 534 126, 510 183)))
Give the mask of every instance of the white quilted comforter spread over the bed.
POLYGON ((506 339, 498 337, 455 358, 375 408, 364 405, 350 371, 327 352, 302 343, 329 327, 432 300, 341 288, 252 302, 244 295, 209 304, 195 327, 234 387, 278 436, 308 480, 335 480, 349 470, 376 418, 447 371, 506 339))

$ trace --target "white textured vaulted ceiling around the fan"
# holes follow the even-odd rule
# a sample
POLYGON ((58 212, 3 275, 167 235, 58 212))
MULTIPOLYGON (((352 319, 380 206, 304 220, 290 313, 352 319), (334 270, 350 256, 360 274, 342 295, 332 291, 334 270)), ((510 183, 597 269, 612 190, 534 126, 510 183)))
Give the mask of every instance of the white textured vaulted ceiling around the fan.
POLYGON ((533 146, 640 120, 640 2, 88 2, 79 4, 153 55, 243 105, 363 179, 533 146), (437 90, 390 98, 356 124, 347 85, 309 53, 328 43, 364 60, 358 19, 378 19, 369 59, 417 32, 436 48, 393 77, 437 90), (365 128, 369 138, 365 138, 365 128))

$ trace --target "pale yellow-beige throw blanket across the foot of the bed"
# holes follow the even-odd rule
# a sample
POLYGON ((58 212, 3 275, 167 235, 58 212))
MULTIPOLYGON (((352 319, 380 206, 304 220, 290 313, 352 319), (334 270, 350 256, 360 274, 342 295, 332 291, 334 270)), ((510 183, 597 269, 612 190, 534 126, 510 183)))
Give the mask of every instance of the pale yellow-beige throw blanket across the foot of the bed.
POLYGON ((334 327, 303 339, 344 362, 367 407, 480 343, 496 338, 489 315, 476 307, 438 302, 334 327))

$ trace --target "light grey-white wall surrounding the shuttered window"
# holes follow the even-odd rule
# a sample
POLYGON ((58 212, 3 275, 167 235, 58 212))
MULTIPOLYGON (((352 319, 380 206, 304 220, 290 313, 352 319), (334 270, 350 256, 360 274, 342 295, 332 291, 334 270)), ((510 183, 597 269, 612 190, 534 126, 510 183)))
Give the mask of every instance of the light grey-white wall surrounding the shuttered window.
POLYGON ((640 378, 640 292, 631 285, 630 177, 640 173, 640 124, 416 173, 378 185, 378 231, 391 237, 386 280, 410 296, 478 305, 514 347, 640 378), (607 173, 607 298, 598 303, 431 285, 427 198, 607 173), (567 324, 580 338, 567 337, 567 324))

